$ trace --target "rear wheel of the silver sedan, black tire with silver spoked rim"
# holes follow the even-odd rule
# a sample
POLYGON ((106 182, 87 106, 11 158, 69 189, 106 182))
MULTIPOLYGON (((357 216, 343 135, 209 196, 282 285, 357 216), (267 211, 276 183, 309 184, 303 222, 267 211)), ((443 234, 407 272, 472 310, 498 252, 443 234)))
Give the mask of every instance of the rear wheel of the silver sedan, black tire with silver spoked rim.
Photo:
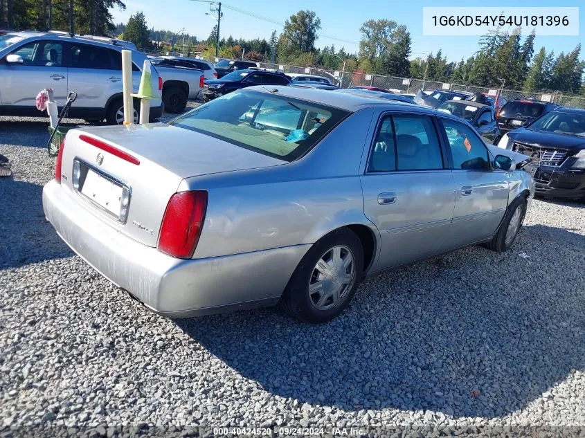
POLYGON ((282 294, 280 307, 304 322, 330 321, 348 307, 362 273, 363 247, 359 237, 348 228, 335 230, 317 241, 301 259, 282 294), (344 266, 345 262, 348 266, 344 266))

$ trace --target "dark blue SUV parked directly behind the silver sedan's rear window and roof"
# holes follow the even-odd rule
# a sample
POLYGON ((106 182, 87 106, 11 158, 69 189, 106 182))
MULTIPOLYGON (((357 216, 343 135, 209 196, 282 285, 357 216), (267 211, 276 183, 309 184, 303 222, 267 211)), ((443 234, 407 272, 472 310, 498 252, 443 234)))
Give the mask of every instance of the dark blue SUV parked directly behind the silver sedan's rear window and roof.
POLYGON ((284 73, 257 70, 236 70, 221 79, 206 80, 203 87, 205 100, 217 98, 231 91, 253 85, 288 85, 289 77, 284 73))

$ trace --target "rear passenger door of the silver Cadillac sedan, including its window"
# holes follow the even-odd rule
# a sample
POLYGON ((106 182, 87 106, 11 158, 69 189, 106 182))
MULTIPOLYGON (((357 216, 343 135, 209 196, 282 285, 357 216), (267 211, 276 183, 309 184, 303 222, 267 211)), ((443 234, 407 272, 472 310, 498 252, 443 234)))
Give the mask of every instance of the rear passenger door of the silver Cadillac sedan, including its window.
POLYGON ((363 210, 380 230, 379 268, 440 251, 453 217, 455 185, 433 117, 381 116, 361 185, 363 210))

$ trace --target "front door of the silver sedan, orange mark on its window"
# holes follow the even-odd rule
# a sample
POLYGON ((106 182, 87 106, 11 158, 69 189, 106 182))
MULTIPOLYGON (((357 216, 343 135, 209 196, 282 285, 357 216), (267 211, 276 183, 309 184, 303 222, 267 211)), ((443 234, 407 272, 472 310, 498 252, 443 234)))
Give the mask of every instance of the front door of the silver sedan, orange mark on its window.
POLYGON ((445 247, 450 250, 488 239, 496 232, 509 190, 506 172, 492 167, 489 151, 475 131, 455 120, 440 120, 456 185, 453 223, 445 247))

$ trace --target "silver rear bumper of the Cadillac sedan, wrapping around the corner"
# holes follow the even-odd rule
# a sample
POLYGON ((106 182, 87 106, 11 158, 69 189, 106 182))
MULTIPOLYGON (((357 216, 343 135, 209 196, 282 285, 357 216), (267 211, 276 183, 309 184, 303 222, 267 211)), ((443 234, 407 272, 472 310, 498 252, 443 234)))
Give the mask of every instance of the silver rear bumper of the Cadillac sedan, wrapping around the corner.
POLYGON ((55 180, 43 189, 49 222, 108 280, 162 316, 184 318, 276 304, 310 245, 206 259, 176 259, 109 226, 55 180))

